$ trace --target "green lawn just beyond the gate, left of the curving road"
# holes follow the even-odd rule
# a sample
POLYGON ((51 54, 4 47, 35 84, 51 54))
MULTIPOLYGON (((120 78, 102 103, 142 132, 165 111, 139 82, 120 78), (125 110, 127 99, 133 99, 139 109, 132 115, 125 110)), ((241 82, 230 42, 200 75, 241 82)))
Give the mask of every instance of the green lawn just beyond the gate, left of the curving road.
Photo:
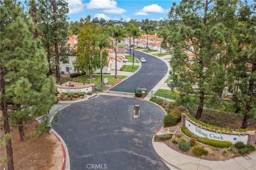
MULTIPOLYGON (((95 78, 92 80, 92 83, 99 85, 100 84, 100 74, 93 74, 92 77, 95 78)), ((103 82, 104 82, 105 78, 108 78, 108 85, 113 85, 117 81, 122 80, 126 77, 127 76, 125 76, 125 75, 117 75, 117 79, 115 79, 115 75, 104 75, 103 74, 103 82)), ((75 80, 78 82, 82 82, 82 83, 90 83, 90 80, 88 78, 89 78, 89 75, 82 75, 82 76, 75 78, 75 80)))

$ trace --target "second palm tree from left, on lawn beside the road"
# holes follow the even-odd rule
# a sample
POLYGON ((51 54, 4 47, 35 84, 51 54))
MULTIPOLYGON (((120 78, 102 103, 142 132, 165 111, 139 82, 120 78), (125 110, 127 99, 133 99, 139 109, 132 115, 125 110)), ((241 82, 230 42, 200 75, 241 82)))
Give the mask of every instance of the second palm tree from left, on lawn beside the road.
POLYGON ((117 79, 117 42, 124 37, 124 31, 121 27, 114 27, 111 32, 111 36, 115 40, 115 79, 117 79))

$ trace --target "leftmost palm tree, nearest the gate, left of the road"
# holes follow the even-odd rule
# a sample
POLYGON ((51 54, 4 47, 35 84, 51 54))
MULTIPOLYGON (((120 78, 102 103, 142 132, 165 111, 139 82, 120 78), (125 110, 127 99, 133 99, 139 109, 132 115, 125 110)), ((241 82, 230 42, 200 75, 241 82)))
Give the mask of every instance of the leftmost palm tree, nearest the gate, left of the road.
POLYGON ((107 34, 99 34, 97 36, 97 46, 100 49, 100 85, 102 86, 102 79, 103 79, 103 75, 102 75, 102 54, 103 51, 107 48, 110 47, 109 44, 109 36, 107 34))

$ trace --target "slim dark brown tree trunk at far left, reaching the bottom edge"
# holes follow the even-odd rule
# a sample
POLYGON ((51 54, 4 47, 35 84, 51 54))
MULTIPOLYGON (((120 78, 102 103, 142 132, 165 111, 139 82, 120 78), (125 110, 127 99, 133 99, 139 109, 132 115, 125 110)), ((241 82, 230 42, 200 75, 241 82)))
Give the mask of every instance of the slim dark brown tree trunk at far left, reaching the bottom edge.
MULTIPOLYGON (((2 63, 2 61, 1 61, 2 63)), ((9 125, 9 118, 7 113, 6 107, 6 100, 5 100, 5 86, 4 86, 4 73, 2 69, 2 64, 0 63, 0 82, 1 82, 1 108, 3 113, 3 120, 4 120, 4 134, 10 134, 10 125, 9 125)), ((13 154, 12 154, 12 140, 7 139, 6 141, 6 155, 7 155, 7 169, 14 170, 13 165, 13 154)))

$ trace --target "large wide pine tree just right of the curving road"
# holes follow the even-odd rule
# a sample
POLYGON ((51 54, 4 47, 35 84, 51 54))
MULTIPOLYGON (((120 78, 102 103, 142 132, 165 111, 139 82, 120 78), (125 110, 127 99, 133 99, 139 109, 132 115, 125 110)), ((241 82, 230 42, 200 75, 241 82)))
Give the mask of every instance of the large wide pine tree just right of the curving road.
POLYGON ((214 70, 219 67, 216 57, 226 43, 223 21, 232 17, 227 17, 233 7, 230 3, 181 1, 169 13, 171 22, 165 38, 173 51, 174 84, 182 94, 199 96, 197 119, 201 118, 205 98, 215 95, 211 83, 214 70))

